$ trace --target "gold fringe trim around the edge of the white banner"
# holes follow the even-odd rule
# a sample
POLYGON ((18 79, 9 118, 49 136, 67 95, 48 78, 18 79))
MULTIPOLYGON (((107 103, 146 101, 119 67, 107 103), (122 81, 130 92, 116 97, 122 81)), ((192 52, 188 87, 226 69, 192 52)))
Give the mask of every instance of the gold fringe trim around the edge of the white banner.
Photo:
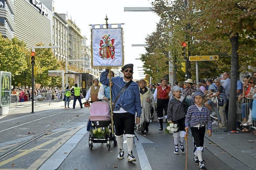
MULTIPOLYGON (((120 29, 120 28, 93 28, 93 29, 120 29)), ((92 49, 92 30, 91 29, 91 56, 92 56, 92 68, 93 69, 118 69, 122 66, 124 66, 124 31, 123 31, 123 28, 121 28, 121 39, 122 39, 122 55, 123 55, 123 61, 122 61, 122 65, 120 66, 93 66, 93 49, 92 49)))

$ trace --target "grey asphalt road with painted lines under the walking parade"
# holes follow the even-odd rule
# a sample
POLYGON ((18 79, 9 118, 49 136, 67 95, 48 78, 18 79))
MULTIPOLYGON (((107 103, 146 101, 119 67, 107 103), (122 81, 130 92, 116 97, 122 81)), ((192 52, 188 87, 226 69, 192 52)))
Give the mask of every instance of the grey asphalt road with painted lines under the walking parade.
MULTIPOLYGON (((71 103, 72 104, 72 103, 71 103)), ((111 143, 88 146, 89 133, 86 131, 88 108, 64 109, 63 102, 51 106, 20 109, 20 113, 10 113, 0 118, 0 154, 48 131, 43 137, 32 141, 0 161, 0 169, 185 169, 185 154, 175 155, 173 137, 159 131, 159 123, 151 122, 149 132, 136 132, 133 154, 136 162, 127 162, 127 147, 124 140, 125 159, 117 159, 118 148, 111 143), (17 127, 16 127, 17 126, 17 127), (8 129, 8 130, 5 130, 8 129)), ((209 142, 205 139, 205 142, 209 142)), ((184 143, 185 144, 185 143, 184 143)), ((206 147, 203 152, 207 169, 231 169, 220 161, 206 147)), ((199 169, 193 160, 192 137, 188 137, 188 169, 199 169)))

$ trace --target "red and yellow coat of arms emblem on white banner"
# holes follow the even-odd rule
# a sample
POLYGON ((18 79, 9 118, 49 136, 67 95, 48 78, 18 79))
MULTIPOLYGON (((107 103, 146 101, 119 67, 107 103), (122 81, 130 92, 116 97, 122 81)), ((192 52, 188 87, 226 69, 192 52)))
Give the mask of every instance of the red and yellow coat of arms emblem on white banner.
POLYGON ((110 40, 110 34, 104 35, 102 37, 103 40, 100 40, 100 58, 104 59, 108 59, 111 57, 111 59, 115 58, 115 46, 114 46, 114 42, 115 39, 111 39, 110 40))

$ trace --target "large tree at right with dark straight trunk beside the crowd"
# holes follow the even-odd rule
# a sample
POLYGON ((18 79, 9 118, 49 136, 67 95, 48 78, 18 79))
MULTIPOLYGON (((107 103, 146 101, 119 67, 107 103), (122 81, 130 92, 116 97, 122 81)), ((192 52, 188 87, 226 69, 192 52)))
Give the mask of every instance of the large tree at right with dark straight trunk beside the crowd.
MULTIPOLYGON (((255 60, 256 36, 256 3, 255 0, 230 0, 230 1, 204 1, 192 0, 195 4, 198 18, 194 22, 198 25, 198 34, 203 34, 206 39, 229 39, 231 51, 231 87, 228 107, 228 130, 236 130, 236 81, 238 73, 238 55, 241 53, 240 40, 246 47, 252 46, 249 51, 255 60), (246 42, 251 42, 248 45, 246 42)), ((242 46, 243 47, 243 46, 242 46)), ((248 48, 247 48, 248 49, 248 48)), ((250 61, 250 59, 247 61, 250 61)))

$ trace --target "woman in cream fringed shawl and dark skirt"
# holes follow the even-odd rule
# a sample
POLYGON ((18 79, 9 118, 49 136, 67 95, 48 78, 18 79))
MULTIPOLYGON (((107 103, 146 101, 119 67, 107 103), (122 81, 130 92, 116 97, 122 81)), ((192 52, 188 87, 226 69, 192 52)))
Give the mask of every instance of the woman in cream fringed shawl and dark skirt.
POLYGON ((148 125, 150 119, 153 117, 155 113, 154 109, 154 96, 150 89, 146 87, 146 81, 144 79, 140 79, 140 102, 142 107, 142 114, 140 115, 140 123, 137 125, 137 130, 141 131, 141 133, 148 132, 148 125), (153 112, 151 113, 151 106, 153 108, 153 112))

